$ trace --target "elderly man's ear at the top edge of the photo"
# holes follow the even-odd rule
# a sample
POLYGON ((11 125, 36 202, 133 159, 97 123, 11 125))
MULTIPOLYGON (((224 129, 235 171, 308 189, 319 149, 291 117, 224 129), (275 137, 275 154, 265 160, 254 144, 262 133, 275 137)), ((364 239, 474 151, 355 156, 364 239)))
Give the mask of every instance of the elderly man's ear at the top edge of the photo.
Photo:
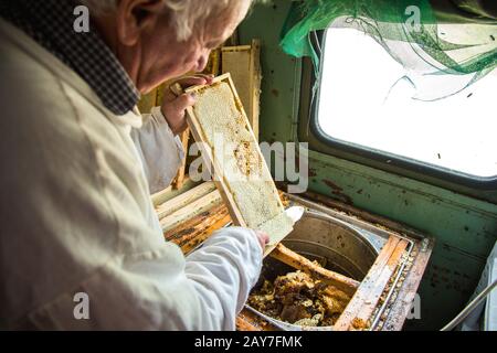
POLYGON ((120 0, 117 6, 117 36, 127 46, 134 46, 141 33, 152 29, 163 12, 161 0, 120 0))

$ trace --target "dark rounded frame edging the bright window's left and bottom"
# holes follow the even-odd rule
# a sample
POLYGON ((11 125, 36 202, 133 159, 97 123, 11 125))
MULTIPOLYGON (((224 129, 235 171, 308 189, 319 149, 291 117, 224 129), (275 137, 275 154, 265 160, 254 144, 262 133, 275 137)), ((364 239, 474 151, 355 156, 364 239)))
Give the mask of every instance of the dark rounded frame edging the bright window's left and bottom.
MULTIPOLYGON (((310 42, 320 57, 319 72, 322 72, 324 51, 320 49, 326 45, 326 31, 328 30, 317 31, 310 36, 310 42)), ((472 175, 330 137, 320 128, 317 116, 320 79, 321 77, 315 76, 310 58, 305 57, 302 62, 298 139, 309 142, 310 150, 472 195, 475 195, 475 192, 478 194, 482 191, 497 190, 497 175, 472 175), (316 96, 313 97, 315 84, 316 96)))

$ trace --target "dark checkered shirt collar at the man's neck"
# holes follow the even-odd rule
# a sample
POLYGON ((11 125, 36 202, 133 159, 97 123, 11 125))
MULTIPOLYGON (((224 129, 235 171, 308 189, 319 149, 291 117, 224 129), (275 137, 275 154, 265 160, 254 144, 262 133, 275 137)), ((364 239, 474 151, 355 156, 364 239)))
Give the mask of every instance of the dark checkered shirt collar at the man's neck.
POLYGON ((76 33, 74 9, 67 0, 2 0, 0 15, 74 69, 115 115, 125 115, 140 95, 95 26, 76 33))

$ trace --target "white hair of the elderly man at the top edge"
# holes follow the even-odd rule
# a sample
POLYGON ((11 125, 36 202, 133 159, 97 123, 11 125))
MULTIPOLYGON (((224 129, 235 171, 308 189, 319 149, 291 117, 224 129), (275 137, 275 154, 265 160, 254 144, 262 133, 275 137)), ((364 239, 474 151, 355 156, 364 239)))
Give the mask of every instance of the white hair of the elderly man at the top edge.
MULTIPOLYGON (((117 8, 118 0, 80 0, 94 13, 109 13, 117 8)), ((197 22, 215 18, 235 9, 241 0, 161 0, 171 11, 171 25, 179 41, 187 41, 197 22)), ((247 0, 253 3, 256 0, 247 0)))

